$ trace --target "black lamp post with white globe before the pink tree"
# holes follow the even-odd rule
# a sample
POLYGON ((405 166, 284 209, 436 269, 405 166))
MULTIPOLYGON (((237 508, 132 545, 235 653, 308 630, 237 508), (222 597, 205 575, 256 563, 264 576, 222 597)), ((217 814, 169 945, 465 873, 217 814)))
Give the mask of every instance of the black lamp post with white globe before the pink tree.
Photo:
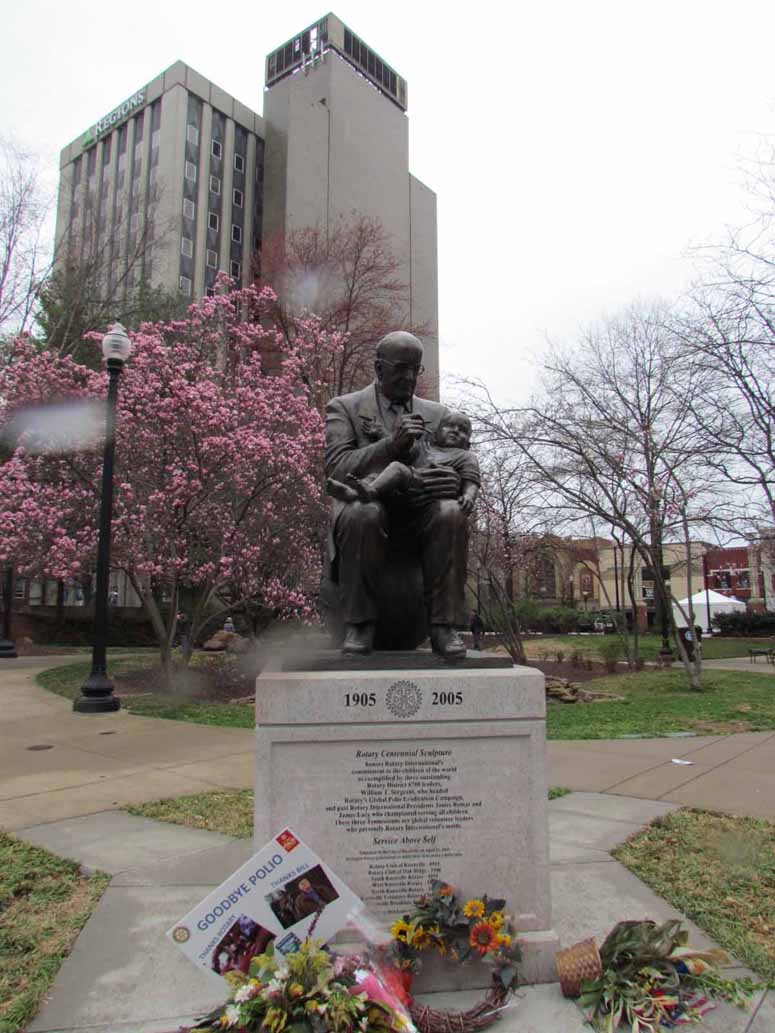
POLYGON ((119 376, 132 345, 121 323, 114 323, 102 338, 102 354, 107 364, 107 404, 105 406, 105 450, 102 458, 102 498, 99 506, 97 543, 97 585, 94 594, 94 648, 92 670, 81 686, 81 695, 72 709, 81 714, 104 714, 117 711, 121 701, 113 694, 107 677, 107 582, 111 573, 111 523, 113 521, 113 458, 116 449, 116 398, 119 376))

